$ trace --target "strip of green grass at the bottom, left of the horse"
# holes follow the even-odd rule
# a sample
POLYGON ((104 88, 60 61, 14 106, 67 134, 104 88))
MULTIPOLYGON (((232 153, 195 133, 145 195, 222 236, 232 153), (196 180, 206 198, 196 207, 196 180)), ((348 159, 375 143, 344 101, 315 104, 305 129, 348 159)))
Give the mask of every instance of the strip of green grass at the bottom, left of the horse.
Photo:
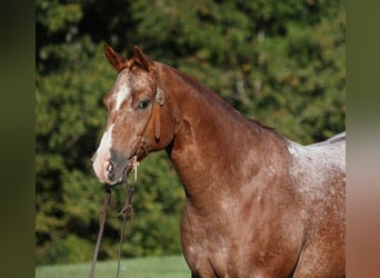
MULTIPOLYGON (((98 261, 94 277, 116 277, 116 260, 98 261)), ((36 278, 82 278, 88 277, 91 262, 36 267, 36 278)), ((120 278, 189 278, 190 270, 182 256, 123 259, 120 262, 120 278)))

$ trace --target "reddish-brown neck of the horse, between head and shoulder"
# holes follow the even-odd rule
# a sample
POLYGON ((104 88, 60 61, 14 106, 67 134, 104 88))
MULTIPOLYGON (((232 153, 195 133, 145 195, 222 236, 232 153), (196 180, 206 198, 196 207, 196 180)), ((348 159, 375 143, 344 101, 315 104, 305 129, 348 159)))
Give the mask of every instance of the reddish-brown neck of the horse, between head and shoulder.
POLYGON ((188 200, 206 206, 210 195, 236 190, 231 186, 240 186, 236 177, 240 183, 252 179, 260 166, 266 167, 269 152, 283 147, 282 137, 244 118, 183 72, 163 67, 166 86, 172 88, 166 89, 169 105, 179 111, 177 131, 168 155, 188 200), (262 161, 263 157, 266 161, 262 161))

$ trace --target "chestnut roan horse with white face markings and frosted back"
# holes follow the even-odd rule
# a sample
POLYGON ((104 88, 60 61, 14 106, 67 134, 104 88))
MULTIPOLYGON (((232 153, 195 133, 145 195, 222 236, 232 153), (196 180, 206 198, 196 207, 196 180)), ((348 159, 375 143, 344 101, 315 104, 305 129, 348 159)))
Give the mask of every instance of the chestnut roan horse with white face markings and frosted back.
POLYGON ((251 120, 139 47, 103 102, 92 157, 100 182, 166 150, 186 193, 181 246, 191 277, 346 277, 346 132, 302 146, 251 120))

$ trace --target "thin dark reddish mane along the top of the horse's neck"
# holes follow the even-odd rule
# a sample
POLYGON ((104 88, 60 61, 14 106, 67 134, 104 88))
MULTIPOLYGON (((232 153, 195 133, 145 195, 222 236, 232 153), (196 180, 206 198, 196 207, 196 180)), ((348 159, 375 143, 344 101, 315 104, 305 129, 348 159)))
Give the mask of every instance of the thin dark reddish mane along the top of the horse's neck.
POLYGON ((241 119, 248 120, 250 123, 253 123, 253 126, 258 126, 258 127, 263 128, 266 130, 272 131, 276 135, 279 135, 278 131, 276 130, 276 128, 269 127, 264 123, 261 123, 258 120, 254 120, 254 119, 251 119, 251 118, 248 118, 248 117, 244 117, 243 115, 241 115, 237 109, 234 109, 231 105, 229 105, 227 101, 224 101, 218 93, 216 93, 211 89, 207 88, 206 86, 200 83, 198 80, 196 80, 191 76, 184 73, 183 71, 181 71, 179 69, 172 68, 170 66, 167 66, 167 64, 163 64, 163 66, 166 66, 169 70, 171 70, 172 72, 174 72, 179 77, 181 77, 183 81, 189 83, 191 87, 196 88, 199 92, 208 96, 209 98, 212 98, 219 106, 223 107, 230 113, 236 115, 241 119))

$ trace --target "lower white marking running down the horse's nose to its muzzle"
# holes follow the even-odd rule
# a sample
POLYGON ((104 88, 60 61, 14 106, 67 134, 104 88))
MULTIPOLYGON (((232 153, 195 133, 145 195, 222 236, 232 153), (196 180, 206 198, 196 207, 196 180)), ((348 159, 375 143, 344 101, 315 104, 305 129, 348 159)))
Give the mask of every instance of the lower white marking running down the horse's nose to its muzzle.
POLYGON ((111 157, 111 147, 112 147, 112 130, 113 123, 108 128, 108 130, 103 133, 99 148, 97 150, 97 156, 93 161, 93 170, 100 181, 107 180, 107 163, 111 157))

